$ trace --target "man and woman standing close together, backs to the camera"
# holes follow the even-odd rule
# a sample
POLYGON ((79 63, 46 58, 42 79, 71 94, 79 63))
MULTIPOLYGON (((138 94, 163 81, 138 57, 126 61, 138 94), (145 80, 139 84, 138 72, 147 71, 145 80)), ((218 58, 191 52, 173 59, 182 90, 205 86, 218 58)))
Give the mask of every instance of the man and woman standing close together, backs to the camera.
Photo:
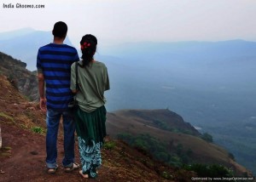
POLYGON ((48 173, 55 173, 58 168, 56 144, 62 118, 65 153, 62 164, 65 171, 80 168, 79 163, 74 162, 76 129, 82 168, 79 173, 84 178, 96 178, 96 169, 102 164, 101 146, 106 136, 104 91, 109 89, 107 67, 93 58, 96 53, 96 37, 90 34, 82 37, 82 60, 79 60, 77 50, 63 43, 67 36, 67 25, 64 22, 56 22, 52 34, 53 43, 39 48, 37 58, 40 108, 46 111, 48 173), (68 109, 73 94, 76 94, 79 103, 79 109, 74 114, 68 109))

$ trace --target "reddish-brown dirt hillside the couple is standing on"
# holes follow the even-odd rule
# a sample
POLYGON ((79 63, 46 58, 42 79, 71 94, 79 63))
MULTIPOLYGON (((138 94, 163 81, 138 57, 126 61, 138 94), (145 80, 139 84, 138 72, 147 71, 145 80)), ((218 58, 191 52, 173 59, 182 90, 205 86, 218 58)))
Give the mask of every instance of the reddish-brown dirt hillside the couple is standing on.
MULTIPOLYGON (((79 173, 46 173, 44 164, 45 122, 36 103, 28 102, 7 77, 0 76, 0 181, 84 181, 79 173)), ((63 155, 63 136, 58 140, 58 163, 63 155)), ((76 142, 76 161, 79 162, 76 142)), ((102 149, 102 168, 93 181, 189 181, 195 173, 167 167, 148 155, 115 139, 108 139, 102 149), (164 178, 165 177, 165 178, 164 178)), ((88 179, 87 181, 90 181, 88 179)))

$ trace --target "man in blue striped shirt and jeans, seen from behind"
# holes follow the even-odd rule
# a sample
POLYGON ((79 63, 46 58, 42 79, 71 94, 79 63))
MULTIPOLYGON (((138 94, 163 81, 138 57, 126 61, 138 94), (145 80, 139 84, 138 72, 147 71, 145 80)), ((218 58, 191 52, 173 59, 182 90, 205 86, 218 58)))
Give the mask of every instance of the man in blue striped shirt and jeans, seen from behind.
POLYGON ((56 144, 62 117, 65 152, 62 164, 66 172, 71 172, 79 168, 79 164, 74 162, 75 123, 67 105, 73 100, 70 90, 71 65, 79 60, 79 55, 75 48, 63 43, 67 36, 67 25, 64 22, 56 22, 52 34, 53 43, 39 48, 37 59, 40 108, 46 111, 46 166, 48 173, 55 173, 58 168, 56 144))

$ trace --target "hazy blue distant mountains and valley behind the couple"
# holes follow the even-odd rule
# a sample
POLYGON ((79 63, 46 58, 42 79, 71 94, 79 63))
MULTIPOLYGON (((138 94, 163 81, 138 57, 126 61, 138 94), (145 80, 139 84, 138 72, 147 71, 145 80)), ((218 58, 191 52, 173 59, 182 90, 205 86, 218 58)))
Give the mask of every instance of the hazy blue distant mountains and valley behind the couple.
MULTIPOLYGON (((0 33, 0 40, 0 52, 33 71, 38 48, 52 36, 26 29, 0 33)), ((243 40, 100 47, 96 60, 108 66, 111 83, 107 109, 175 111, 256 173, 255 50, 243 40)))

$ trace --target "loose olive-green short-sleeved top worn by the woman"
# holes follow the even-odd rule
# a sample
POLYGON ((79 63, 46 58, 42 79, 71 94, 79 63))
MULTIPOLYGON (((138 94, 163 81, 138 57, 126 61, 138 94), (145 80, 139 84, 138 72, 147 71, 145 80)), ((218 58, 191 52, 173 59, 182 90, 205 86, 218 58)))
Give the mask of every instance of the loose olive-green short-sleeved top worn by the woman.
MULTIPOLYGON (((79 92, 76 94, 76 100, 82 111, 92 112, 106 103, 104 91, 110 88, 108 69, 99 61, 93 61, 84 67, 80 66, 82 61, 78 64, 79 92)), ((70 88, 76 90, 75 63, 71 66, 70 88)))

